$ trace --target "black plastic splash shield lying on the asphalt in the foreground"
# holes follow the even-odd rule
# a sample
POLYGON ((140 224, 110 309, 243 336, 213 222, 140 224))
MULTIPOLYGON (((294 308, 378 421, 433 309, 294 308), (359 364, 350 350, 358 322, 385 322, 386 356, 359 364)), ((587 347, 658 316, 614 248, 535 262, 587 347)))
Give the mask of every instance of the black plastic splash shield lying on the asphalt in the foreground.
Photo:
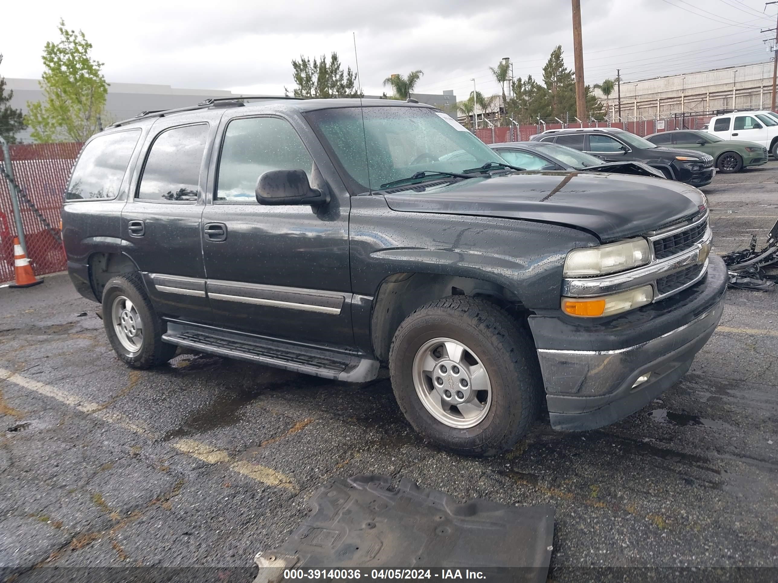
MULTIPOLYGON (((475 499, 460 504, 402 479, 355 476, 324 484, 310 514, 286 543, 259 553, 256 581, 286 581, 285 569, 356 568, 481 571, 486 581, 546 580, 554 509, 517 508, 475 499)), ((427 579, 429 581, 429 579, 427 579)))

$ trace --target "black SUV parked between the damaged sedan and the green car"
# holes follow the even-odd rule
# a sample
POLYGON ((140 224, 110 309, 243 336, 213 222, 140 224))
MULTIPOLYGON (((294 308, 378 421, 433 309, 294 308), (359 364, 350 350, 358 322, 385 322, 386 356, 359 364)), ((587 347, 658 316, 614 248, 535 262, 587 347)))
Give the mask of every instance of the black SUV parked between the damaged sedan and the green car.
POLYGON ((694 187, 710 184, 716 175, 713 156, 694 150, 661 148, 615 127, 548 130, 532 138, 532 141, 566 145, 608 162, 645 162, 660 170, 666 178, 694 187))

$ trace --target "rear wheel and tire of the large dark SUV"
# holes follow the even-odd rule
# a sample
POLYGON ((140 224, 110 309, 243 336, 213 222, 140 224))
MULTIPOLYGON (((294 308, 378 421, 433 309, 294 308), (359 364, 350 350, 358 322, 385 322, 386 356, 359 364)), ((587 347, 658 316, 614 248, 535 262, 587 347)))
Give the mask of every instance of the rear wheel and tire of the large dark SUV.
POLYGON ((133 368, 162 365, 176 352, 162 341, 166 326, 145 293, 141 274, 120 275, 105 285, 103 326, 114 352, 133 368))

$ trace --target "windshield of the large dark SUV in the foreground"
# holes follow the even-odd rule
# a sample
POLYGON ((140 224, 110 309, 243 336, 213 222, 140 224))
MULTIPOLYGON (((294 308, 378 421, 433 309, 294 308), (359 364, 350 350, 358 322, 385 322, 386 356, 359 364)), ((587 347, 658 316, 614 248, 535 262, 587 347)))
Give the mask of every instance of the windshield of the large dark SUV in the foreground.
POLYGON ((307 117, 357 189, 380 190, 422 170, 461 173, 505 163, 457 120, 426 107, 342 107, 307 117))

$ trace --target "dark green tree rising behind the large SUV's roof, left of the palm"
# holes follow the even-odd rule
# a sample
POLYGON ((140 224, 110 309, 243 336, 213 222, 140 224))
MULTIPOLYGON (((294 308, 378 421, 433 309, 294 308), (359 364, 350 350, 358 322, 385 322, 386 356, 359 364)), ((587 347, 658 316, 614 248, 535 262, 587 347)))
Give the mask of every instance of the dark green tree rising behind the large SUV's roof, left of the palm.
MULTIPOLYGON (((295 97, 331 99, 362 96, 356 88, 356 75, 351 67, 343 72, 338 53, 332 53, 329 62, 324 54, 319 61, 315 57, 311 60, 300 55, 300 61, 292 61, 292 69, 292 77, 297 85, 293 89, 295 97)), ((289 95, 289 89, 286 87, 284 92, 289 95)))

